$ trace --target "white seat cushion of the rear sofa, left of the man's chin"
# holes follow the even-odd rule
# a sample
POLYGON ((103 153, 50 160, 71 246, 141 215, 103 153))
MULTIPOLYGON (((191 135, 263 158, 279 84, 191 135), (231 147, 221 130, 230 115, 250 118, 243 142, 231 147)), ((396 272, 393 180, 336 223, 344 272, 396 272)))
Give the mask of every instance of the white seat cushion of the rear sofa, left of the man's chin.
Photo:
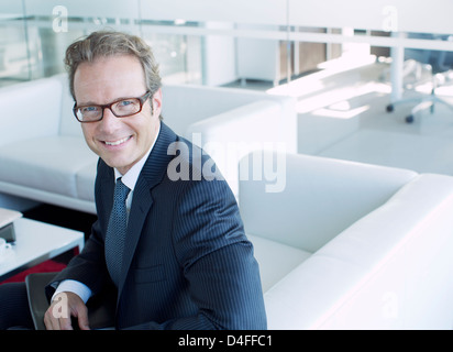
POLYGON ((14 142, 0 148, 0 180, 77 198, 76 174, 96 161, 80 138, 14 142))

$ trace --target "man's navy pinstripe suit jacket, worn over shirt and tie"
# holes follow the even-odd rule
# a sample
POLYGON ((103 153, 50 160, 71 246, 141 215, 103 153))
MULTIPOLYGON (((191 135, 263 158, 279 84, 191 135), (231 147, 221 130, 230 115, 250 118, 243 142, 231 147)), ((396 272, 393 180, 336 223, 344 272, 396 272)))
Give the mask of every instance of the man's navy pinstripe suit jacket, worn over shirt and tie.
POLYGON ((55 282, 79 280, 95 296, 110 287, 120 329, 266 328, 258 267, 235 199, 224 180, 201 176, 210 161, 192 147, 162 123, 134 189, 118 290, 104 261, 114 176, 99 161, 98 221, 55 282), (184 178, 189 170, 190 179, 175 180, 169 165, 179 165, 184 178))

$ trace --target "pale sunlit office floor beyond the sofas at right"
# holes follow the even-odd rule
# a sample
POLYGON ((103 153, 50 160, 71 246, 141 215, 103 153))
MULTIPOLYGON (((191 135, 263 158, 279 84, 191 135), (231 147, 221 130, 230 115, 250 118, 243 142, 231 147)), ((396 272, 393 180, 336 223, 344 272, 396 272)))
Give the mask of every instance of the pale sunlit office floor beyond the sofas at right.
MULTIPOLYGON (((405 118, 413 103, 400 105, 388 113, 390 84, 383 79, 388 64, 375 63, 334 75, 314 74, 292 81, 288 87, 270 89, 272 94, 290 94, 298 99, 301 118, 340 119, 342 123, 355 121, 357 128, 347 136, 316 154, 410 168, 420 173, 453 175, 453 109, 437 105, 416 114, 413 123, 405 118)), ((424 78, 430 76, 424 74, 424 78)), ((411 77, 405 79, 411 82, 411 77)), ((429 95, 431 80, 424 80, 404 92, 404 98, 429 95), (422 92, 420 92, 420 91, 422 92)), ((450 100, 453 107, 453 84, 446 81, 438 89, 439 96, 450 100)), ((299 131, 300 133, 300 131, 299 131)), ((322 130, 319 132, 322 138, 322 130)))

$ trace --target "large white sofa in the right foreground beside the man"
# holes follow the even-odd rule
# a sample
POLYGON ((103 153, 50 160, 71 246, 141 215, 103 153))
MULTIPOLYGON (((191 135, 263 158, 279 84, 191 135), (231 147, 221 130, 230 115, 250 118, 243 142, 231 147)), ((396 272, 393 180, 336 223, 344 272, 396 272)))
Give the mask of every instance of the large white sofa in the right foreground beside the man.
POLYGON ((453 328, 453 177, 265 154, 285 188, 245 157, 239 200, 269 329, 453 328))

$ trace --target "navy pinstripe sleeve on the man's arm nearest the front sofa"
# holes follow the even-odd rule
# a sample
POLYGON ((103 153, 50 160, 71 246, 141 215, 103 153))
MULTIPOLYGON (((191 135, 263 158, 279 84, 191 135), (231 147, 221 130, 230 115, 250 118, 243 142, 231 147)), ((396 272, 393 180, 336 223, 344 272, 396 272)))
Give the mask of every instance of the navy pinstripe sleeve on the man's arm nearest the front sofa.
POLYGON ((175 215, 174 248, 196 316, 132 329, 266 329, 259 271, 226 183, 189 182, 175 215))

